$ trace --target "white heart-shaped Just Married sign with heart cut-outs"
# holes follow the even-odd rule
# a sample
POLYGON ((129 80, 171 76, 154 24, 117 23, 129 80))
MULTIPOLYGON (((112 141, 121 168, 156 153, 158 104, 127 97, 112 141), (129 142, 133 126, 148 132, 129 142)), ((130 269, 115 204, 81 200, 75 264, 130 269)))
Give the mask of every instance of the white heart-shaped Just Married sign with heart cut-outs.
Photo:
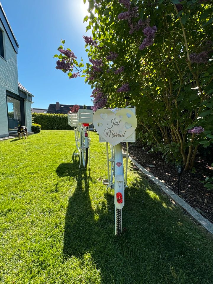
POLYGON ((98 109, 93 114, 93 125, 101 137, 115 146, 135 131, 137 118, 130 109, 120 109, 117 112, 98 109))

